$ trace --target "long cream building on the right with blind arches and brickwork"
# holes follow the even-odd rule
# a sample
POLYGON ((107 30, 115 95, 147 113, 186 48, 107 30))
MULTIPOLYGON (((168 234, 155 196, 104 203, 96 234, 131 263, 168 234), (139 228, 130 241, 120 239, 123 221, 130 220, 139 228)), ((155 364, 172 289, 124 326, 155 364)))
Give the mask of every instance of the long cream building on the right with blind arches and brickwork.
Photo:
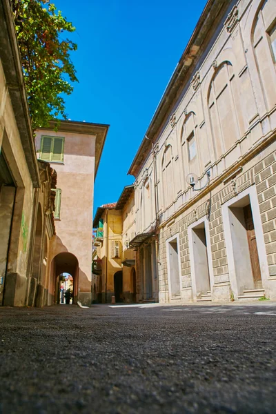
POLYGON ((161 303, 276 299, 275 62, 275 0, 206 3, 128 172, 161 303))

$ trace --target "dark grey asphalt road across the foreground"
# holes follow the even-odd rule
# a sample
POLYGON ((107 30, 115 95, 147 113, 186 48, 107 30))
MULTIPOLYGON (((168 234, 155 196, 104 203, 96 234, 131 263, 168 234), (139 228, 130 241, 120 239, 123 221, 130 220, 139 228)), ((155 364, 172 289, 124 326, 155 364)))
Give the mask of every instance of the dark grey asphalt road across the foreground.
POLYGON ((0 413, 276 413, 276 304, 0 308, 0 413))

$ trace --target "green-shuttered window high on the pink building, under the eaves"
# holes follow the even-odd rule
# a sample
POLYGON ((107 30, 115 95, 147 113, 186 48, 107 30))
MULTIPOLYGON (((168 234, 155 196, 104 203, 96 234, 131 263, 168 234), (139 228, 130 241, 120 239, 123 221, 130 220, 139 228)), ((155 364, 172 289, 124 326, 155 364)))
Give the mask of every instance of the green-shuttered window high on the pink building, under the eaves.
POLYGON ((40 159, 63 162, 64 137, 41 137, 40 159))

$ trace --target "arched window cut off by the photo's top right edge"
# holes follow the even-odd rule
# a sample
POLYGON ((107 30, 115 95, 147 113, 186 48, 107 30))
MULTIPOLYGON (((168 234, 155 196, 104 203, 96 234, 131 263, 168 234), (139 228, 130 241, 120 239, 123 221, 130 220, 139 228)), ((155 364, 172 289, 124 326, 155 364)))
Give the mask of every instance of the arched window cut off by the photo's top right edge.
POLYGON ((266 98, 266 109, 270 110, 276 103, 275 0, 263 2, 255 19, 252 39, 257 70, 266 98))

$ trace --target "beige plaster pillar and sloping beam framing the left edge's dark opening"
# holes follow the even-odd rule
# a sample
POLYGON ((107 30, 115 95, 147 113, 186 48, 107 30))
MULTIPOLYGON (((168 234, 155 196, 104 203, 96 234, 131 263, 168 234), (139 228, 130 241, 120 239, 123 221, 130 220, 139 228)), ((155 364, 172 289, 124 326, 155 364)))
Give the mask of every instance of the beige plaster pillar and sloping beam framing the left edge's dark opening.
MULTIPOLYGON (((0 149, 8 161, 14 184, 17 186, 3 304, 23 306, 26 304, 28 282, 33 186, 1 63, 0 96, 0 149)), ((2 263, 2 266, 5 264, 2 263)))

